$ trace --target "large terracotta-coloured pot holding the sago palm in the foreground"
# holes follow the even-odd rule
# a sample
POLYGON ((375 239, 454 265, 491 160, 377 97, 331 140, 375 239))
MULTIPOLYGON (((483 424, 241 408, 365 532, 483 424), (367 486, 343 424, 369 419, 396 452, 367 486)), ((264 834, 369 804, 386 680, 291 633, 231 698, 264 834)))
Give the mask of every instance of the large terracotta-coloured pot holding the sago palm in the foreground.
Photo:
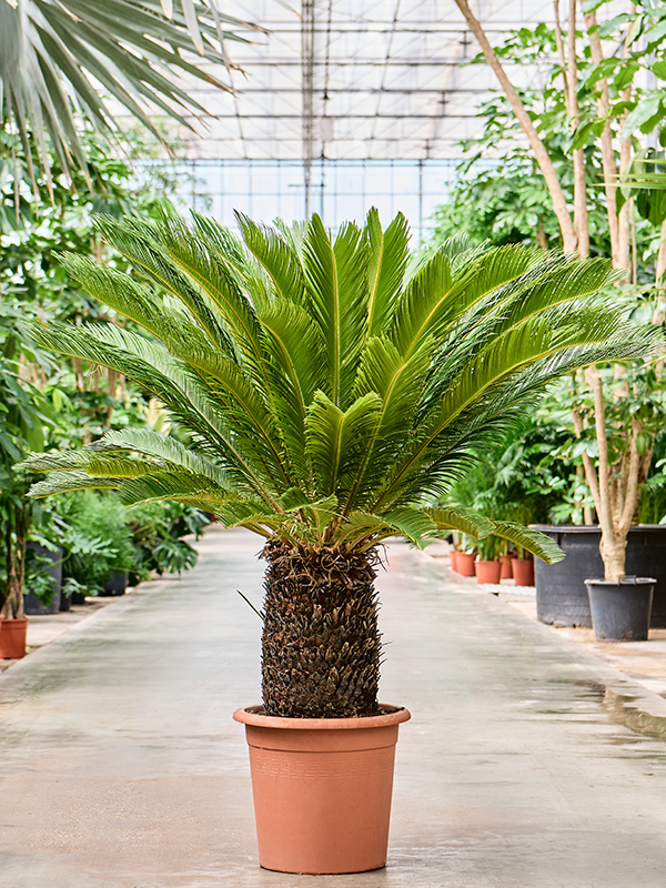
POLYGON ((259 862, 311 875, 386 864, 397 727, 406 709, 369 718, 278 718, 238 709, 245 725, 259 862))

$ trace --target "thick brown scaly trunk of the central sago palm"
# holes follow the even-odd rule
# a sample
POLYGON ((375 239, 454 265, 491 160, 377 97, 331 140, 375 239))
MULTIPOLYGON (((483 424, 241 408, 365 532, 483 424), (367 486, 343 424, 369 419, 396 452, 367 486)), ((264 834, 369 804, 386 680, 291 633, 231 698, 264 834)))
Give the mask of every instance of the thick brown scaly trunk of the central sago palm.
POLYGON ((291 718, 377 714, 382 652, 376 552, 269 541, 264 579, 264 713, 291 718))

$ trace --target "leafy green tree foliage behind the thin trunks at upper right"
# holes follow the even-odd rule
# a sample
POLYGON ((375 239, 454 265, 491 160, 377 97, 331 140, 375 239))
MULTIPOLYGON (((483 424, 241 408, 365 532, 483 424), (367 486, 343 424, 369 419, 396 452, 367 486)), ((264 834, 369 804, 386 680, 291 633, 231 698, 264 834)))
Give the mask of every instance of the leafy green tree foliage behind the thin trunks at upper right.
MULTIPOLYGON (((616 53, 595 65, 588 51, 579 53, 577 99, 581 125, 574 133, 566 112, 562 68, 556 61, 555 31, 544 23, 532 29, 521 28, 509 32, 504 42, 495 47, 504 62, 519 64, 528 74, 529 88, 519 91, 519 95, 553 161, 569 205, 574 202, 572 152, 574 148, 584 149, 593 255, 610 254, 598 147, 605 123, 597 108, 601 79, 605 78, 608 83, 614 138, 619 138, 620 131, 622 138, 640 131, 656 132, 658 138, 666 140, 666 130, 659 134, 666 119, 666 84, 645 77, 646 72, 659 77, 657 72, 662 71, 662 62, 657 60, 666 43, 663 7, 652 2, 638 3, 626 17, 616 17, 604 23, 601 31, 604 39, 616 40, 620 46, 626 29, 634 24, 644 37, 632 40, 626 58, 616 53), (646 42, 648 36, 649 42, 646 42), (645 87, 650 80, 657 83, 655 89, 645 87), (625 91, 628 87, 632 87, 632 94, 627 100, 625 91)), ((485 64, 485 58, 480 54, 470 63, 485 64)), ((493 244, 561 245, 559 228, 545 181, 532 152, 522 147, 522 129, 504 95, 497 94, 484 103, 478 117, 483 123, 482 135, 461 142, 466 158, 458 167, 457 180, 447 201, 435 212, 433 243, 440 244, 446 238, 465 232, 473 243, 487 240, 493 244)), ((637 142, 634 148, 638 148, 637 142)), ((658 228, 664 218, 662 211, 666 212, 660 194, 647 188, 654 181, 652 168, 645 164, 650 157, 663 157, 663 152, 654 149, 638 151, 625 171, 623 182, 626 184, 618 194, 619 206, 629 196, 637 198, 635 233, 639 281, 649 278, 644 266, 656 258, 658 228)))

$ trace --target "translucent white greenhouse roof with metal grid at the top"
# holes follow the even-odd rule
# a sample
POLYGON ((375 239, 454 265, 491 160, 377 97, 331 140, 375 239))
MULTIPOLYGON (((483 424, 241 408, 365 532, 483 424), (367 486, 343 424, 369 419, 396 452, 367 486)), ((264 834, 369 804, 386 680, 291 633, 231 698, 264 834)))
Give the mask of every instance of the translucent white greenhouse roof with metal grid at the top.
MULTIPOLYGON (((493 42, 551 20, 551 0, 473 3, 493 42)), ((229 43, 235 95, 192 94, 211 110, 190 157, 215 160, 436 160, 456 157, 494 87, 453 0, 238 0, 263 26, 229 43)), ((519 81, 529 74, 513 72, 519 81)))

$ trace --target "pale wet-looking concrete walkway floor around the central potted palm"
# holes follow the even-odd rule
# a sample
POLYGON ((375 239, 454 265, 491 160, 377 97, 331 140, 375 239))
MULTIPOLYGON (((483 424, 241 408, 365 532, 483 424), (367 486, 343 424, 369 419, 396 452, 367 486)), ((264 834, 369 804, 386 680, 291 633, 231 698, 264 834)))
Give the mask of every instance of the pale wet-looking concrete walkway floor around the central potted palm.
POLYGON ((382 699, 406 705, 390 865, 256 865, 261 542, 213 528, 0 677, 0 888, 663 888, 666 700, 397 544, 382 699))

